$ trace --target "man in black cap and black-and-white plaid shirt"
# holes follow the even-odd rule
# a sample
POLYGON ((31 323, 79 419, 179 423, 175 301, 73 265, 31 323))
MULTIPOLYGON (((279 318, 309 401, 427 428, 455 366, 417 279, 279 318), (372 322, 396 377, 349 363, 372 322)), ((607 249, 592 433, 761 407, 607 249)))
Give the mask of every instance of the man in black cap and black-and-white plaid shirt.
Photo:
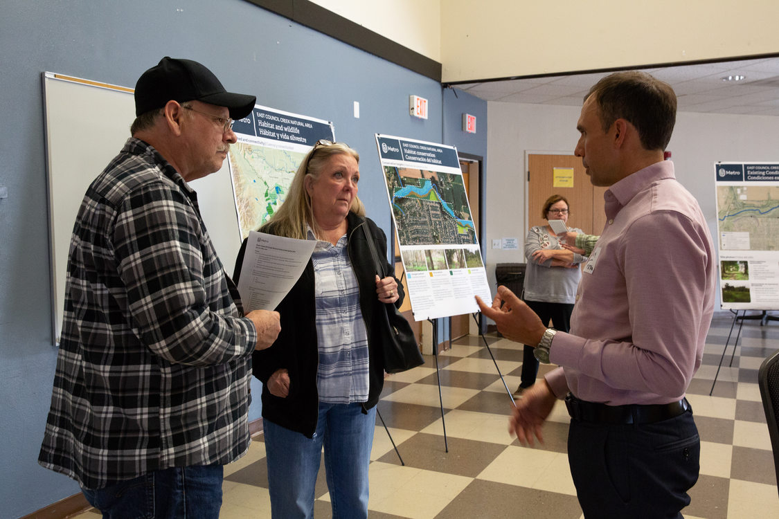
POLYGON ((76 217, 38 461, 104 517, 218 517, 222 465, 249 447, 251 353, 280 324, 241 317, 188 182, 220 170, 256 98, 163 58, 135 100, 132 137, 76 217))

